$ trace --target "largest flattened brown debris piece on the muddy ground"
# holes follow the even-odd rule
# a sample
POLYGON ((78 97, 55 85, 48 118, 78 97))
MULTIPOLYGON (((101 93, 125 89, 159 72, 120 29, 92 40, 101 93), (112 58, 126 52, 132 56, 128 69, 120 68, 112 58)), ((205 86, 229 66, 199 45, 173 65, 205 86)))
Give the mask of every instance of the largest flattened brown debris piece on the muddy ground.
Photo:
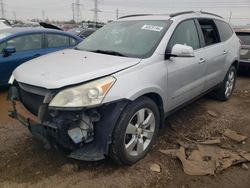
MULTIPOLYGON (((179 149, 160 150, 160 152, 177 157, 183 165, 183 171, 194 176, 215 175, 233 165, 246 163, 250 160, 250 153, 221 148, 217 145, 220 143, 220 139, 201 143, 197 143, 197 149, 193 150, 190 155, 187 155, 188 148, 183 146, 179 149)), ((244 167, 247 168, 245 165, 244 167)))

